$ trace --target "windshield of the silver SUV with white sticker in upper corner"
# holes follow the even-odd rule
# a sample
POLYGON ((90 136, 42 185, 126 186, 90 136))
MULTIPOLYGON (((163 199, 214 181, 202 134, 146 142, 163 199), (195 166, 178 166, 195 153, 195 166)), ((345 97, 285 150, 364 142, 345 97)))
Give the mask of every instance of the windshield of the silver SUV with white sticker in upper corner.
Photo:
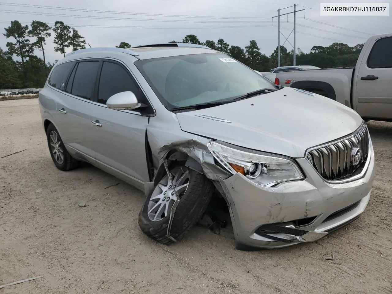
POLYGON ((249 67, 221 53, 138 60, 136 67, 168 109, 230 101, 276 86, 249 67))

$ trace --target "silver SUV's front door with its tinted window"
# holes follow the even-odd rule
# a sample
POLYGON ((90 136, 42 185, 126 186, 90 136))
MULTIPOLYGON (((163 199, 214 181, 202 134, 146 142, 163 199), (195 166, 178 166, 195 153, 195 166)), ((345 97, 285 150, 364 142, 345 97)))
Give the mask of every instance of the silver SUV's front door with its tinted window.
POLYGON ((124 91, 132 91, 139 102, 148 103, 123 64, 104 60, 96 89, 97 103, 90 118, 99 124, 93 127, 95 158, 139 183, 146 183, 150 181, 145 147, 148 109, 126 111, 106 106, 109 97, 124 91))

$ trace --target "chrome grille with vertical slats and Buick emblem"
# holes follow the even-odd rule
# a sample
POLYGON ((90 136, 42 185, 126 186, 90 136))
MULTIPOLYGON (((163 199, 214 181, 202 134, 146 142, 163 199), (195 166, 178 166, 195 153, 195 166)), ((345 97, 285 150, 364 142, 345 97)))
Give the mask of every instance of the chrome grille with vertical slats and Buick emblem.
POLYGON ((369 135, 367 126, 363 123, 351 136, 309 150, 306 159, 325 180, 336 181, 361 172, 368 153, 369 135))

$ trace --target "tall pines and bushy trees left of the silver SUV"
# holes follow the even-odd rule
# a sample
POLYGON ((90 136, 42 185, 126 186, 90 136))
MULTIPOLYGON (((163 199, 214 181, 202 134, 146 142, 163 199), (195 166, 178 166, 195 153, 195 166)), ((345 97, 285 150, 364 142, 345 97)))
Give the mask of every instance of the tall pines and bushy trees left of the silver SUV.
POLYGON ((54 27, 45 22, 33 20, 29 25, 22 25, 18 20, 11 21, 5 27, 7 51, 0 48, 0 89, 43 87, 47 74, 54 63, 46 62, 46 38, 54 33, 54 51, 62 53, 71 48, 72 51, 85 48, 86 41, 78 30, 62 21, 56 21, 54 27), (30 40, 34 38, 35 40, 30 40), (34 50, 42 51, 42 58, 34 54, 34 50), (17 57, 15 61, 13 58, 17 57))

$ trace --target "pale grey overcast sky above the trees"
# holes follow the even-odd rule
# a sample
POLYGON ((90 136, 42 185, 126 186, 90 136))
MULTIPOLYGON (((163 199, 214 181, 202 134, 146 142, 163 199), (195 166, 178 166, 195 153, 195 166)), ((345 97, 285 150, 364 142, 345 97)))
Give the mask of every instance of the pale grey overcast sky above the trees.
MULTIPOLYGON (((327 46, 333 42, 345 42, 354 46, 364 43, 371 34, 392 32, 392 16, 320 16, 321 2, 333 1, 295 2, 298 4, 297 10, 305 9, 297 13, 296 47, 300 47, 306 53, 314 45, 327 46)), ((346 0, 345 2, 360 1, 346 0)), ((389 1, 367 0, 366 2, 389 1)), ((5 3, 0 0, 0 47, 2 49, 6 49, 5 44, 8 41, 3 36, 4 27, 8 27, 11 20, 19 20, 22 24, 30 23, 32 20, 54 24, 56 20, 61 20, 78 29, 91 47, 114 47, 120 42, 128 42, 133 46, 167 43, 171 40, 181 41, 186 34, 195 34, 201 42, 205 40, 216 42, 218 38, 223 38, 230 45, 241 47, 245 47, 249 44, 249 40, 254 39, 258 42, 260 51, 269 56, 278 45, 278 18, 274 18, 275 26, 272 26, 272 16, 278 14, 278 9, 294 5, 294 2, 287 0, 198 0, 197 2, 195 0, 40 0, 39 2, 18 0, 13 2, 22 5, 45 5, 46 8, 5 4, 11 2, 5 3), (49 7, 51 9, 48 9, 49 7), (60 8, 53 9, 53 7, 60 8), (120 13, 75 11, 69 8, 120 13), (92 25, 101 27, 88 27, 92 25)), ((284 9, 281 13, 291 11, 293 7, 284 9)), ((286 37, 293 29, 293 16, 293 14, 289 15, 288 20, 287 16, 281 17, 281 33, 286 37)), ((53 37, 52 32, 45 46, 46 59, 50 62, 62 58, 62 54, 54 52, 53 37)), ((281 44, 284 40, 281 35, 281 44)), ((10 41, 15 42, 15 40, 10 41)), ((290 44, 293 44, 293 34, 284 44, 288 50, 292 49, 290 44)), ((70 49, 67 52, 69 51, 70 49)), ((42 56, 40 51, 36 51, 36 54, 42 56)))

